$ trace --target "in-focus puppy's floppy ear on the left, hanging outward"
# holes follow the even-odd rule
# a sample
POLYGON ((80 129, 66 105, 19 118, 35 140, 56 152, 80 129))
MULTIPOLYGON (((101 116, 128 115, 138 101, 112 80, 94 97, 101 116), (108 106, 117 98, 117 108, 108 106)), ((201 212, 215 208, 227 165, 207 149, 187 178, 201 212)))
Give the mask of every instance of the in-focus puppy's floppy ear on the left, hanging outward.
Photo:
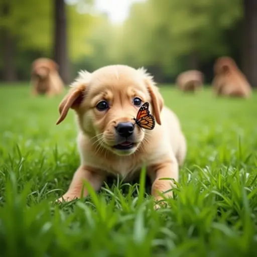
POLYGON ((89 72, 79 72, 79 76, 76 78, 75 82, 72 83, 70 91, 59 104, 60 117, 56 122, 57 125, 65 119, 70 108, 76 109, 79 107, 83 101, 86 87, 89 83, 89 77, 89 72))

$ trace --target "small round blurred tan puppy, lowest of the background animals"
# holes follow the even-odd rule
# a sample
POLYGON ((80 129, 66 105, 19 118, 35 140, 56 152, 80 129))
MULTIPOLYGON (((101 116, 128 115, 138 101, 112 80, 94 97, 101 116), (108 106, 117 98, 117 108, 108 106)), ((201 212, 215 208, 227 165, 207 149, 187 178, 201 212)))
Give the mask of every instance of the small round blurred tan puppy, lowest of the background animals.
POLYGON ((204 76, 198 70, 188 70, 179 74, 176 84, 182 91, 195 92, 197 89, 202 88, 204 76))

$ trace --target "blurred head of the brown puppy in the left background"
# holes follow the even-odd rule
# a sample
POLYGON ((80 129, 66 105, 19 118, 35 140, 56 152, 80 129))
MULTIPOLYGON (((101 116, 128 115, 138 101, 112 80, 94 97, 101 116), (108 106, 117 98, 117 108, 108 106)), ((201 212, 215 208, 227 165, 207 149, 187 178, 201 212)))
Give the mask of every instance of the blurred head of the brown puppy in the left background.
POLYGON ((48 58, 38 58, 32 63, 32 76, 45 79, 53 70, 57 70, 58 65, 48 58))

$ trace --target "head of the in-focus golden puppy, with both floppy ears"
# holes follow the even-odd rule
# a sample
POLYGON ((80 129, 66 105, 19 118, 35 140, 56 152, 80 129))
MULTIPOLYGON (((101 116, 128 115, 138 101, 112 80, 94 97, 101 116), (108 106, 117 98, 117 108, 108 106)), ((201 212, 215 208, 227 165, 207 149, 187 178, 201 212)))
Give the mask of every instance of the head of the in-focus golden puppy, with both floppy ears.
POLYGON ((135 125, 134 117, 144 102, 161 124, 163 99, 153 78, 141 69, 111 65, 93 73, 80 72, 59 105, 59 124, 69 108, 78 114, 80 129, 92 144, 116 155, 134 153, 149 133, 135 125))

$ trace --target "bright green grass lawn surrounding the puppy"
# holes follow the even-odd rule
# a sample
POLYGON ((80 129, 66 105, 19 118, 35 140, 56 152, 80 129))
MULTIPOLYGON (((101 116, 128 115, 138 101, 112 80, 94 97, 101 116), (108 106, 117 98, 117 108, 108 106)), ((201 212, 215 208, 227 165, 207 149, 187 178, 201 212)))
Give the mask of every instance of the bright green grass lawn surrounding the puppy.
POLYGON ((74 113, 56 126, 62 96, 0 87, 0 256, 257 256, 257 93, 161 91, 188 153, 170 208, 154 211, 144 179, 53 203, 79 165, 74 113))

